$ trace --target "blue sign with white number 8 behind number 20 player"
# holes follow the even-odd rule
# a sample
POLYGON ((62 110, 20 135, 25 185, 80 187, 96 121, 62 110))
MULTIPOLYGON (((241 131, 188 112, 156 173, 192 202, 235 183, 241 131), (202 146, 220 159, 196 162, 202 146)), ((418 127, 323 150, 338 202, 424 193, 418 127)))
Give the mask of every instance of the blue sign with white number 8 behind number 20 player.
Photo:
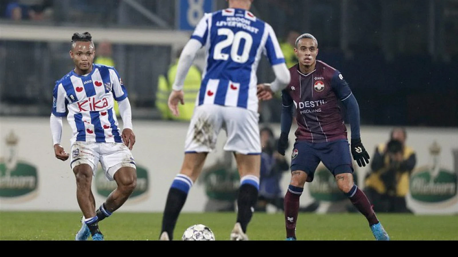
POLYGON ((212 0, 177 0, 177 24, 180 30, 194 30, 204 13, 213 11, 212 0))

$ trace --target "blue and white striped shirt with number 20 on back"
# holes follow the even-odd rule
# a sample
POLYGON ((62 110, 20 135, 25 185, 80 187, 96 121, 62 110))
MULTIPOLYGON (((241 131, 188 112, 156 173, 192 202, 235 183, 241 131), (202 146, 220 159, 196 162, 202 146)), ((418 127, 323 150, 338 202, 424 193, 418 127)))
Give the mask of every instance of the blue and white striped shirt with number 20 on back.
POLYGON ((271 65, 285 62, 272 27, 250 11, 206 14, 191 38, 205 47, 207 67, 196 105, 218 104, 257 112, 256 70, 261 54, 271 65))

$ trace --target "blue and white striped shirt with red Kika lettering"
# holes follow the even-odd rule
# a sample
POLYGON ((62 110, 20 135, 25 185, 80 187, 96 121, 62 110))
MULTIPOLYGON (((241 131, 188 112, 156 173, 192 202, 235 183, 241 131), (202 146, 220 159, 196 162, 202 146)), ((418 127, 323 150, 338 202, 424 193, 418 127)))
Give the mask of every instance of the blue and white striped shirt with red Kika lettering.
POLYGON ((67 116, 73 132, 71 143, 122 143, 114 100, 124 100, 127 91, 113 67, 93 64, 88 75, 72 70, 56 81, 53 96, 52 113, 67 116))

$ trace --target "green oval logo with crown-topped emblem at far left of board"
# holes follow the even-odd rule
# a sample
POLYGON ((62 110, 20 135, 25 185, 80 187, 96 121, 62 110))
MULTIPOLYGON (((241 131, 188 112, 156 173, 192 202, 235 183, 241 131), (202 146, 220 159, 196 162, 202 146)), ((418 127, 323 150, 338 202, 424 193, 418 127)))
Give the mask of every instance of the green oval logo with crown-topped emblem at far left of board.
POLYGON ((38 195, 37 168, 17 158, 19 139, 13 131, 6 137, 7 158, 0 158, 0 198, 29 201, 38 195))

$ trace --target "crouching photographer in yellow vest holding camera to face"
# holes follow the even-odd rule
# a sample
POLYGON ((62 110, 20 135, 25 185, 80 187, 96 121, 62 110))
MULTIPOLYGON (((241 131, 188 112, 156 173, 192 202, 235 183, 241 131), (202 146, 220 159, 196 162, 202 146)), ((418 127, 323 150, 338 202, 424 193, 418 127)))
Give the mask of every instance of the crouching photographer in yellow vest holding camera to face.
POLYGON ((406 138, 405 129, 395 128, 390 140, 375 149, 364 189, 375 212, 412 212, 407 208, 405 197, 416 156, 414 150, 405 145, 406 138))

